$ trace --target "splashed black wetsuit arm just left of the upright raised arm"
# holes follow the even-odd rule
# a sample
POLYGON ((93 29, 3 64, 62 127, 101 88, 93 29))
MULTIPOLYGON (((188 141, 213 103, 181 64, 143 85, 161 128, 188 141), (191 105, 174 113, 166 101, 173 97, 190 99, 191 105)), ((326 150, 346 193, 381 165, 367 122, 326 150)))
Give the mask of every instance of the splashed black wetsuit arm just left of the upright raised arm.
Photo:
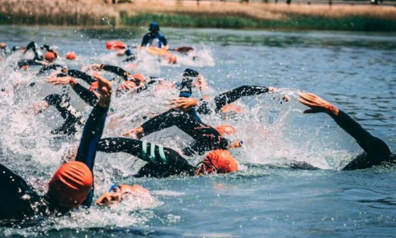
POLYGON ((51 94, 45 97, 44 100, 49 105, 55 106, 65 120, 62 126, 51 131, 52 134, 74 135, 77 132, 76 123, 79 126, 84 125, 84 118, 80 112, 70 105, 68 98, 59 94, 51 94))

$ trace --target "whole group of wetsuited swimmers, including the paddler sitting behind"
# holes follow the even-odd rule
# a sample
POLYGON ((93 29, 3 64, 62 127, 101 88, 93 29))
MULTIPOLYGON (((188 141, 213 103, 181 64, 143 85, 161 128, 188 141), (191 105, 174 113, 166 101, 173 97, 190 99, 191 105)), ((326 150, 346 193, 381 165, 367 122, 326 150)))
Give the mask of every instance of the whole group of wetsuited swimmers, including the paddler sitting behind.
MULTIPOLYGON (((161 34, 158 35, 158 31, 158 24, 152 23, 150 33, 144 36, 142 45, 157 39, 156 44, 160 44, 158 47, 167 47, 166 38, 161 34)), ((230 150, 243 146, 243 142, 230 141, 226 138, 227 135, 235 133, 235 128, 227 124, 212 127, 210 123, 203 122, 200 115, 214 114, 226 120, 227 117, 232 116, 229 112, 241 110, 233 104, 241 97, 272 93, 276 90, 273 87, 242 86, 214 98, 197 99, 193 96, 193 92, 205 91, 207 84, 205 77, 193 69, 184 70, 181 82, 139 73, 131 74, 121 67, 106 64, 91 65, 90 69, 93 72, 89 74, 55 64, 55 59, 60 55, 47 45, 39 47, 32 42, 24 48, 9 49, 2 43, 0 48, 5 54, 18 50, 23 52, 32 50, 35 53, 33 59, 20 60, 17 65, 18 70, 26 65, 41 65, 39 74, 59 70, 47 77, 46 82, 62 85, 63 93, 48 95, 33 106, 35 112, 40 113, 52 105, 64 118, 62 126, 51 133, 74 135, 79 127, 84 127, 78 148, 71 153, 70 161, 61 165, 54 173, 49 181, 48 191, 44 195, 39 195, 22 177, 0 164, 0 181, 5 191, 0 196, 0 219, 34 219, 40 215, 63 214, 80 206, 90 207, 94 193, 93 168, 96 151, 129 153, 147 162, 135 177, 204 176, 237 172, 239 163, 230 150), (47 51, 44 56, 43 51, 47 51), (114 73, 123 81, 115 89, 114 82, 113 84, 109 82, 99 73, 100 71, 114 73), (79 80, 90 87, 84 87, 79 80), (108 111, 113 110, 110 107, 111 97, 128 91, 139 94, 152 87, 179 90, 179 97, 172 102, 172 108, 158 115, 142 115, 146 122, 126 131, 122 137, 102 138, 108 111), (86 120, 70 104, 69 88, 74 90, 82 101, 93 107, 86 120), (193 139, 180 153, 175 149, 141 140, 151 133, 172 126, 176 126, 193 139), (202 156, 202 161, 197 165, 191 165, 186 158, 194 154, 202 156)), ((70 53, 66 58, 73 60, 76 55, 70 53)), ((287 102, 290 98, 285 96, 283 100, 287 102)), ((391 153, 384 141, 371 135, 338 107, 312 93, 300 93, 298 101, 309 107, 304 113, 322 112, 331 116, 364 150, 342 170, 367 169, 383 163, 396 163, 396 155, 391 153)), ((318 169, 313 166, 304 168, 318 169)), ((115 184, 99 197, 96 204, 109 205, 120 202, 125 196, 143 193, 147 194, 149 191, 140 185, 115 184)))

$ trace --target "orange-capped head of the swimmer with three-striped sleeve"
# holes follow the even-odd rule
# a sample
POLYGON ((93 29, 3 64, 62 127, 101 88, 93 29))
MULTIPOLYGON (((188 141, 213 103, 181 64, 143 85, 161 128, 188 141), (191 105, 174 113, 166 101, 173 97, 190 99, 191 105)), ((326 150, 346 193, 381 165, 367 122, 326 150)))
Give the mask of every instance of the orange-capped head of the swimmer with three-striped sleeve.
POLYGON ((224 149, 210 151, 203 162, 197 165, 195 175, 226 174, 238 170, 238 162, 234 156, 224 149))

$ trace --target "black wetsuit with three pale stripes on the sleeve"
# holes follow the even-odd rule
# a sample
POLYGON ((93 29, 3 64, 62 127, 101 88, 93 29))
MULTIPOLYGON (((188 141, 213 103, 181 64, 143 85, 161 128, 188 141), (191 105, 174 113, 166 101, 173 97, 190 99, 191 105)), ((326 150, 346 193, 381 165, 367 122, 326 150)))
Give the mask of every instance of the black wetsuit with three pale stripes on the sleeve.
POLYGON ((171 175, 194 175, 195 167, 188 164, 178 152, 150 142, 128 138, 101 139, 97 151, 106 153, 125 152, 148 162, 135 177, 169 177, 171 175))

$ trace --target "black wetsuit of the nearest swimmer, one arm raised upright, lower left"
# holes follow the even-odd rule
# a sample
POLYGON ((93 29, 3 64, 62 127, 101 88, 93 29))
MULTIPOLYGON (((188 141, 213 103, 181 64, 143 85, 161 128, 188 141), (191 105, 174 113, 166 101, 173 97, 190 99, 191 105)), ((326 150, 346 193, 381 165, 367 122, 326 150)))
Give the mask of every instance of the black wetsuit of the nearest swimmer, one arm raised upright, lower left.
MULTIPOLYGON (((93 170, 96 146, 105 126, 107 109, 95 106, 92 110, 81 138, 76 161, 86 164, 93 170)), ((67 211, 60 208, 51 199, 49 193, 40 196, 24 179, 0 164, 0 181, 3 194, 0 196, 0 219, 25 219, 31 215, 47 215, 53 210, 67 211)), ((82 205, 92 203, 93 187, 82 205)))

